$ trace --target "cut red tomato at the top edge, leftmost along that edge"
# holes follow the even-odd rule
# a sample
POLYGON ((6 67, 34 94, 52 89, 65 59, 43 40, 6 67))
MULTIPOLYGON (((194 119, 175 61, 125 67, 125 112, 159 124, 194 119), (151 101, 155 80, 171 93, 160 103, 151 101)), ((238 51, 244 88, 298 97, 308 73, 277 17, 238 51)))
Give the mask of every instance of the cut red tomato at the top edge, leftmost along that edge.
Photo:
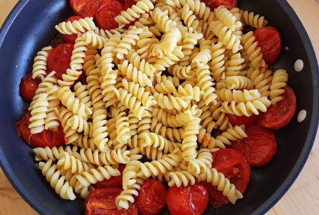
POLYGON ((94 17, 102 0, 70 0, 74 13, 82 17, 94 17))

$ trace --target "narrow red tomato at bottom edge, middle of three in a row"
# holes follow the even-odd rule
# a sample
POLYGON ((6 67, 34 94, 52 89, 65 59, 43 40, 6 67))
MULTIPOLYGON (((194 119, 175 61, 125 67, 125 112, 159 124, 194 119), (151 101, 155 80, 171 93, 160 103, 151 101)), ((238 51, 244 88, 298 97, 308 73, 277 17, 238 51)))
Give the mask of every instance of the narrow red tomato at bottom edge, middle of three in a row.
POLYGON ((158 180, 149 179, 139 193, 137 205, 141 215, 158 215, 165 206, 166 188, 158 180))

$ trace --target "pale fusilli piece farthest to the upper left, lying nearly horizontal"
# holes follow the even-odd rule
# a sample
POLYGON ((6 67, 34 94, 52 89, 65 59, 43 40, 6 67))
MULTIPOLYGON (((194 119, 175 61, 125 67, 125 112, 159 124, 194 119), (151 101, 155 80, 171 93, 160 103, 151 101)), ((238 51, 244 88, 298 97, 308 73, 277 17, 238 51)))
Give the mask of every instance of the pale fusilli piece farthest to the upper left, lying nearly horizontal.
POLYGON ((85 31, 94 30, 96 28, 93 17, 85 17, 79 20, 61 22, 55 26, 55 29, 58 30, 61 34, 77 34, 84 33, 85 31))

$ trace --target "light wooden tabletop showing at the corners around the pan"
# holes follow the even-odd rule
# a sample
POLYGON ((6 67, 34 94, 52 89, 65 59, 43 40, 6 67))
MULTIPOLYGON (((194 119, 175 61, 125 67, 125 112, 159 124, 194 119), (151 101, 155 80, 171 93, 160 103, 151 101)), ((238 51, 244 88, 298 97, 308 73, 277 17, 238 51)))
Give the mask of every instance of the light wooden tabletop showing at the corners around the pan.
MULTIPOLYGON (((0 26, 17 0, 0 0, 0 26)), ((319 4, 288 0, 306 27, 319 58, 319 4)), ((296 182, 267 215, 319 215, 319 133, 310 157, 296 182)), ((262 195, 262 194, 261 194, 262 195)), ((0 170, 0 215, 38 215, 15 192, 0 170)))

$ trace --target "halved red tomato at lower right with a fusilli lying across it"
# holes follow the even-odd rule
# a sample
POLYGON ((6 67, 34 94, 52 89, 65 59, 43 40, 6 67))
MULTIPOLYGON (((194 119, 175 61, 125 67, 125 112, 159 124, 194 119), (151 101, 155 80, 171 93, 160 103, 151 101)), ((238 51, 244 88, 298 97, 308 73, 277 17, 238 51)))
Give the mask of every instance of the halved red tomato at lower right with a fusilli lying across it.
MULTIPOLYGON (((231 148, 220 149, 212 155, 212 167, 223 173, 237 190, 244 193, 250 179, 250 166, 244 156, 231 148)), ((229 204, 228 198, 223 195, 223 192, 217 190, 217 186, 207 182, 204 185, 209 191, 210 203, 215 210, 229 204)))

